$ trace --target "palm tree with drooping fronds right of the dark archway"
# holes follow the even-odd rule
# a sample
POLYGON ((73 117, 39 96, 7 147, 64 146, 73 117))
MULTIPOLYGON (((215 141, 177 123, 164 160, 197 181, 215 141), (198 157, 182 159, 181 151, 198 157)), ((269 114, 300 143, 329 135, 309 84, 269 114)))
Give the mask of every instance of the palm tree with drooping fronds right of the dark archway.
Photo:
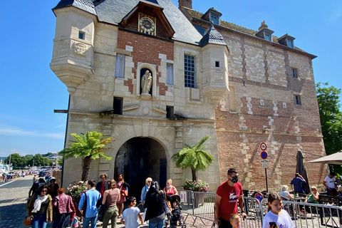
POLYGON ((193 181, 197 180, 196 172, 198 170, 206 170, 207 167, 214 161, 214 157, 203 150, 205 147, 203 144, 209 138, 209 136, 204 136, 201 140, 199 140, 197 145, 193 147, 186 145, 187 147, 183 148, 180 150, 180 152, 177 152, 177 154, 172 156, 172 159, 176 163, 176 167, 182 169, 187 167, 191 168, 193 181))

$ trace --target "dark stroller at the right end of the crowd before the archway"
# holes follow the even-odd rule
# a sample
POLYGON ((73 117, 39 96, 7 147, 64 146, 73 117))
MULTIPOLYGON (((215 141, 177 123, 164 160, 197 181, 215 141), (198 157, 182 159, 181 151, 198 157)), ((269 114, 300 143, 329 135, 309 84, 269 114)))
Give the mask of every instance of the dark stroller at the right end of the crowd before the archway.
POLYGON ((172 211, 167 214, 167 219, 165 219, 165 228, 186 228, 187 224, 185 224, 184 217, 182 214, 182 207, 180 207, 180 195, 172 195, 171 205, 175 203, 175 207, 172 205, 172 211), (169 226, 170 224, 170 226, 169 226))

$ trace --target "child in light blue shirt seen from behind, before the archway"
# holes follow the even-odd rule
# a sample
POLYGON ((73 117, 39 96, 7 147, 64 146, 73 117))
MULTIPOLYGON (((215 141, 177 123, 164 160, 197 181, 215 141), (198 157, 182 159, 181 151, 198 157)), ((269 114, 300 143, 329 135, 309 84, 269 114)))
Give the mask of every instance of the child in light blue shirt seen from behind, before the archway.
POLYGON ((135 207, 137 204, 137 199, 135 197, 128 197, 126 202, 128 203, 128 209, 123 211, 123 217, 121 217, 120 222, 125 225, 126 228, 138 228, 138 218, 140 219, 141 224, 142 217, 140 216, 140 209, 135 207))

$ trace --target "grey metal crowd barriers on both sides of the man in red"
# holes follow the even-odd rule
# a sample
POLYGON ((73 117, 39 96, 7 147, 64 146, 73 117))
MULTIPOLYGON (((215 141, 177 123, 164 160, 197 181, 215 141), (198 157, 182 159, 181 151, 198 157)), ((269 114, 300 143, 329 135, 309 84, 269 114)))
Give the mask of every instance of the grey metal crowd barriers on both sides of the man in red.
MULTIPOLYGON (((180 206, 187 217, 192 217, 194 223, 200 219, 214 221, 215 193, 178 191, 181 197, 180 206)), ((296 227, 340 227, 342 228, 342 207, 331 204, 309 204, 305 202, 285 201, 284 209, 289 213, 296 227)), ((262 227, 264 215, 267 213, 267 199, 259 202, 254 197, 244 197, 244 211, 246 219, 241 219, 242 228, 262 227)), ((240 214, 240 213, 239 213, 240 214)))

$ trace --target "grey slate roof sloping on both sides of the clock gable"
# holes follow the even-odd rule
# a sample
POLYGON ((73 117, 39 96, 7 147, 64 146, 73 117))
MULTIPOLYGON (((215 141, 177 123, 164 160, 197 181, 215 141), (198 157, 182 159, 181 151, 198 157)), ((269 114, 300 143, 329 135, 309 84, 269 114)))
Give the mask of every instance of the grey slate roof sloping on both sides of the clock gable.
MULTIPOLYGON (((175 30, 173 40, 199 44, 202 36, 184 14, 173 4, 172 0, 143 0, 158 4, 163 8, 167 20, 175 30), (157 2, 157 3, 156 3, 157 2)), ((98 16, 98 20, 119 25, 122 19, 139 4, 139 0, 61 0, 54 9, 75 6, 90 14, 98 16)))

